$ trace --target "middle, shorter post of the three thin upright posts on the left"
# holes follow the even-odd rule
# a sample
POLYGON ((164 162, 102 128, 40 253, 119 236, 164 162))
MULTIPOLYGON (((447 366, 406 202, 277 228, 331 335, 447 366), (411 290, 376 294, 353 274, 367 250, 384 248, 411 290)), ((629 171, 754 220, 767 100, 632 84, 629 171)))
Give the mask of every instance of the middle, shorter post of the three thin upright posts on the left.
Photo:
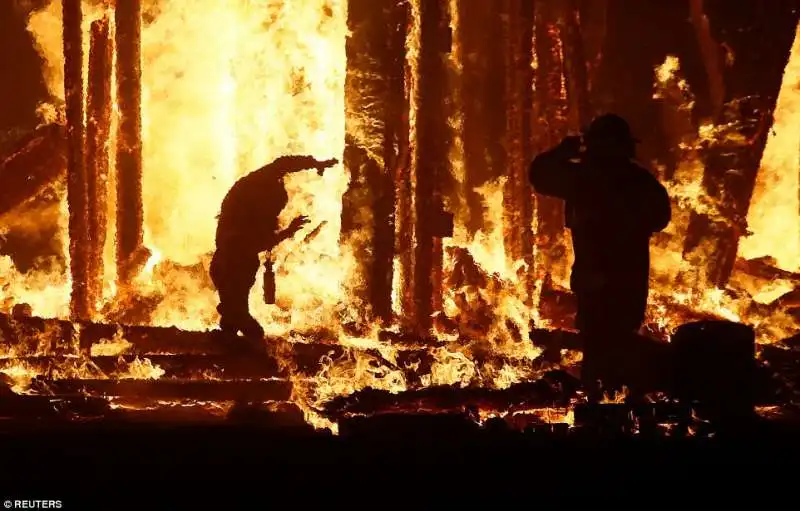
POLYGON ((111 131, 111 37, 108 17, 92 23, 89 45, 86 157, 89 215, 89 296, 92 312, 103 292, 103 249, 106 242, 106 199, 111 131))

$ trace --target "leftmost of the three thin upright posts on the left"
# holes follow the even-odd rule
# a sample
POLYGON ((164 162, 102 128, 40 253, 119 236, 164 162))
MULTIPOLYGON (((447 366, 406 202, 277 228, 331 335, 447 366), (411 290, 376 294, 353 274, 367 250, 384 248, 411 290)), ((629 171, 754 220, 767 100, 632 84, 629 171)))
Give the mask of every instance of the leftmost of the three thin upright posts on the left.
POLYGON ((71 315, 88 319, 89 261, 86 164, 83 107, 83 13, 81 0, 63 0, 64 93, 67 111, 67 202, 69 204, 69 254, 72 275, 71 315))

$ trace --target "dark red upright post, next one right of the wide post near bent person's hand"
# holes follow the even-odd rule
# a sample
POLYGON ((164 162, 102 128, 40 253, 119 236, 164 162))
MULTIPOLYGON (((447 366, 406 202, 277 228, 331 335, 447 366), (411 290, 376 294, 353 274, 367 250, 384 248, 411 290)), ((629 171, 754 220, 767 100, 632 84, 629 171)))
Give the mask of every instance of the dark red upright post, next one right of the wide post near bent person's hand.
POLYGON ((414 322, 425 336, 442 301, 442 238, 452 235, 452 217, 444 211, 440 181, 449 173, 445 101, 450 51, 446 4, 420 2, 420 49, 416 88, 414 189, 414 322))

